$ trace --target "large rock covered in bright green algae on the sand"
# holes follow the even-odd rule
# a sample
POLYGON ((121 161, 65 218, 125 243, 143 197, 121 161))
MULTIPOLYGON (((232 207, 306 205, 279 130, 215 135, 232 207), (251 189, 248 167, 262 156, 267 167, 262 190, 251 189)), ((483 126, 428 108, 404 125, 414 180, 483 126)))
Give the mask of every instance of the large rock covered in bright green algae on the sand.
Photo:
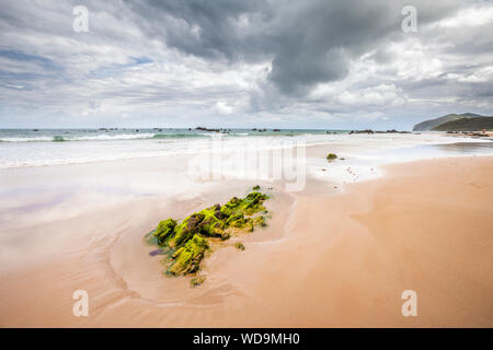
MULTIPOLYGON (((256 190, 245 198, 233 197, 223 206, 206 208, 181 222, 173 219, 163 220, 145 238, 149 244, 162 248, 162 255, 167 256, 163 262, 169 265, 167 275, 195 273, 209 249, 206 238, 223 241, 233 232, 252 232, 255 226, 267 225, 266 217, 263 215, 267 213, 263 206, 266 199, 267 195, 256 190), (255 215, 257 213, 260 214, 255 215)), ((241 246, 244 249, 242 244, 241 246)))

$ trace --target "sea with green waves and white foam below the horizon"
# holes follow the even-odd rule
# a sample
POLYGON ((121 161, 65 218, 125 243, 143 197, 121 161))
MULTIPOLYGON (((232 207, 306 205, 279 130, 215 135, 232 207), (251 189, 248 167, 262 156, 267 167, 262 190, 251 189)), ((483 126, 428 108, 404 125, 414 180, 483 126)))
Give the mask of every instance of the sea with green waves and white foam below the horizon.
POLYGON ((328 144, 354 160, 402 162, 440 155, 492 154, 493 142, 440 132, 348 135, 310 129, 0 129, 0 168, 80 164, 220 152, 328 144), (444 148, 468 143, 471 147, 444 148), (481 144, 481 145, 480 145, 481 144))

